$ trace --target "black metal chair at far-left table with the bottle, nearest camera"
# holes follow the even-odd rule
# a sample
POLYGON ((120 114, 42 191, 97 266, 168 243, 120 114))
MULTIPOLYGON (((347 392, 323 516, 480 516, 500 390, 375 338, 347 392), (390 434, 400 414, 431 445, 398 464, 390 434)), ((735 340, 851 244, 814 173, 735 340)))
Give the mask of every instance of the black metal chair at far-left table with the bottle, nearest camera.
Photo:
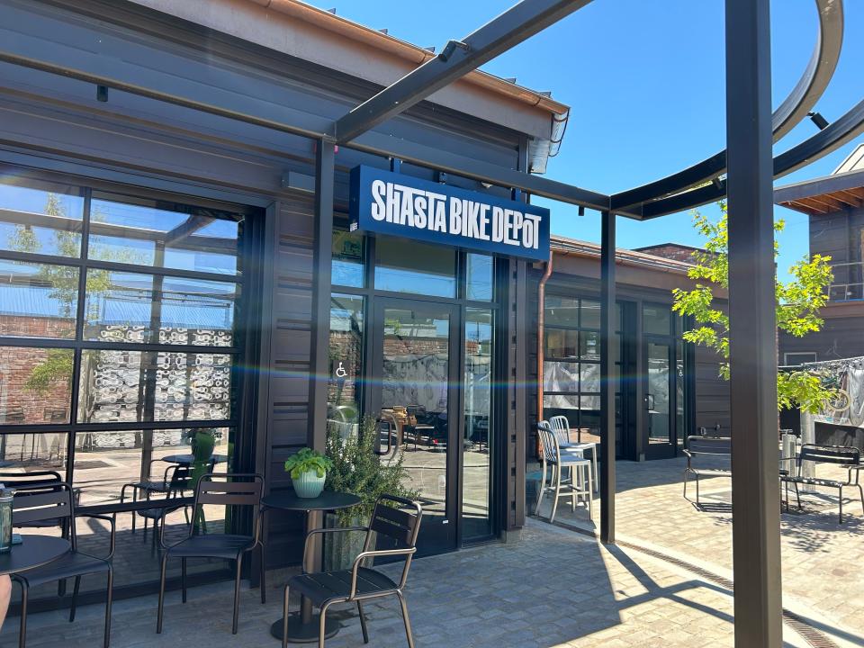
POLYGON ((52 520, 55 525, 68 528, 71 550, 47 565, 16 573, 13 580, 21 585, 21 630, 18 635, 19 648, 24 648, 27 640, 27 599, 31 587, 53 581, 65 581, 75 578, 75 590, 72 593, 72 603, 69 608, 69 622, 75 621, 75 608, 81 577, 87 574, 108 574, 108 590, 105 602, 105 634, 104 648, 108 648, 111 639, 111 601, 114 583, 112 557, 116 540, 114 518, 89 513, 76 513, 72 498, 72 489, 67 483, 54 484, 48 489, 36 491, 19 491, 12 503, 13 527, 27 527, 40 521, 52 520), (108 555, 98 558, 84 554, 77 549, 75 520, 76 518, 95 518, 111 525, 111 545, 108 555))

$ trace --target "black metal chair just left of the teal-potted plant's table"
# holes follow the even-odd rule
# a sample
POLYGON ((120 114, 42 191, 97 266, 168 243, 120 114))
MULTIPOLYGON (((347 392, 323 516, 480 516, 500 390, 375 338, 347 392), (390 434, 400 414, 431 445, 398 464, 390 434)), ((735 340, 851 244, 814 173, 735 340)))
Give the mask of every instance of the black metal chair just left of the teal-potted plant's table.
MULTIPOLYGON (((165 521, 159 527, 159 545, 162 546, 162 573, 159 579, 159 611, 156 622, 156 632, 162 632, 162 610, 165 603, 165 572, 168 558, 182 560, 181 587, 183 602, 186 602, 186 559, 187 558, 217 558, 234 561, 234 623, 231 632, 237 635, 237 621, 240 606, 240 568, 243 564, 243 554, 258 549, 261 561, 261 602, 266 602, 265 585, 265 555, 264 544, 261 542, 261 494, 264 491, 264 478, 259 474, 205 474, 195 486, 195 502, 193 504, 193 520, 189 523, 189 535, 175 545, 165 544, 165 521), (218 481, 217 481, 218 480, 218 481), (251 507, 252 524, 255 529, 253 536, 238 536, 231 534, 210 534, 201 529, 202 534, 195 531, 195 520, 198 518, 198 508, 206 505, 251 507)), ((165 509, 164 516, 172 509, 165 509)))

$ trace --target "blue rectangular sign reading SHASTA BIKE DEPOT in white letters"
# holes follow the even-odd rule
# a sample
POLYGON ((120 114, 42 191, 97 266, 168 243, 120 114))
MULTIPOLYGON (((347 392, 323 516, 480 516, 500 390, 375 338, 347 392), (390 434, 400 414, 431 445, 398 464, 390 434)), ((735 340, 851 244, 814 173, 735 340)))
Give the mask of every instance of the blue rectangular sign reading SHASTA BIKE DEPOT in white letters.
POLYGON ((372 166, 351 171, 351 229, 549 258, 549 210, 372 166))

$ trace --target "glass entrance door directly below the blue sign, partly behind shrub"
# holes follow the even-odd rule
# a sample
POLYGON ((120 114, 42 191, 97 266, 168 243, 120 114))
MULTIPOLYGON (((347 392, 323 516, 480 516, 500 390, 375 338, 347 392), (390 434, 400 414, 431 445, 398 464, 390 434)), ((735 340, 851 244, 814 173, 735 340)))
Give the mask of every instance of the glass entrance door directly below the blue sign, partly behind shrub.
POLYGON ((403 485, 423 504, 419 553, 455 548, 458 470, 458 311, 401 299, 375 307, 371 410, 382 461, 402 461, 403 485))

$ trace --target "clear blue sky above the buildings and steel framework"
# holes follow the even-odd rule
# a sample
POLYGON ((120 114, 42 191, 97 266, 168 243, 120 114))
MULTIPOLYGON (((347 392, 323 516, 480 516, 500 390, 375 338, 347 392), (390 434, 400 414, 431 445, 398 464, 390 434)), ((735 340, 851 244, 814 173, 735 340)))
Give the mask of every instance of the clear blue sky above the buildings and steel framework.
MULTIPOLYGON (((515 2, 515 0, 513 0, 515 2)), ((513 2, 437 0, 329 0, 339 15, 418 45, 440 51, 446 40, 462 38, 513 2)), ((813 0, 774 2, 772 59, 775 106, 795 85, 816 37, 813 0)), ((542 31, 483 69, 516 76, 520 85, 551 90, 572 106, 561 154, 547 176, 612 193, 668 175, 714 154, 725 145, 724 3, 722 0, 596 0, 542 31)), ((833 83, 816 105, 833 121, 858 102, 864 40, 864 2, 846 3, 846 40, 833 83), (856 42, 857 41, 857 42, 856 42), (856 66, 856 62, 858 65, 856 66)), ((807 120, 783 139, 776 152, 815 132, 807 120)), ((854 143, 824 157, 777 185, 830 174, 854 143)), ((536 201, 541 202, 541 201, 536 201)), ((599 241, 599 217, 579 217, 575 208, 547 204, 553 231, 599 241)), ((714 206, 703 211, 716 213, 714 206)), ((781 207, 787 220, 781 235, 780 270, 807 252, 806 216, 781 207)), ((699 245, 689 213, 639 223, 619 218, 620 247, 676 241, 699 245)))

